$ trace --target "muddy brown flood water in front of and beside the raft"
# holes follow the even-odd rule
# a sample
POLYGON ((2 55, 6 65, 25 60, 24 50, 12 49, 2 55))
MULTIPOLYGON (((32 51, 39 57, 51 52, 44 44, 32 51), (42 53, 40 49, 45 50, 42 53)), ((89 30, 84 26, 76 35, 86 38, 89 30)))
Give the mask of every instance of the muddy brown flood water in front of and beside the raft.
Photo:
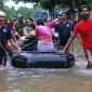
POLYGON ((14 68, 8 62, 0 69, 0 92, 92 92, 92 69, 80 42, 75 40, 76 64, 68 69, 14 68))

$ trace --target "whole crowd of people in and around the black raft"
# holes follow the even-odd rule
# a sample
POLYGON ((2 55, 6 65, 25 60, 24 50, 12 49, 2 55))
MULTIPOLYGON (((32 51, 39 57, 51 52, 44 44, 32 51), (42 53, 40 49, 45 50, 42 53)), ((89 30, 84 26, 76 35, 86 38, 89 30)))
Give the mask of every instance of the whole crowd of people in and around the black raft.
MULTIPOLYGON (((0 67, 4 67, 6 64, 6 49, 10 43, 21 53, 21 49, 17 45, 17 41, 29 36, 36 36, 38 43, 37 50, 42 52, 50 52, 55 50, 55 42, 53 39, 53 31, 57 32, 60 54, 64 54, 69 51, 71 47, 74 52, 73 40, 80 34, 79 40, 81 41, 86 57, 88 60, 87 68, 92 67, 92 18, 90 18, 88 5, 82 5, 80 21, 74 28, 73 22, 67 18, 67 13, 62 12, 53 21, 48 21, 48 14, 43 13, 42 17, 38 17, 36 23, 32 18, 28 17, 24 22, 24 17, 19 14, 18 17, 14 17, 12 23, 6 22, 5 13, 0 11, 0 67), (9 41, 8 41, 9 40, 9 41), (71 44, 71 45, 70 45, 71 44)), ((70 52, 70 51, 69 51, 70 52)))

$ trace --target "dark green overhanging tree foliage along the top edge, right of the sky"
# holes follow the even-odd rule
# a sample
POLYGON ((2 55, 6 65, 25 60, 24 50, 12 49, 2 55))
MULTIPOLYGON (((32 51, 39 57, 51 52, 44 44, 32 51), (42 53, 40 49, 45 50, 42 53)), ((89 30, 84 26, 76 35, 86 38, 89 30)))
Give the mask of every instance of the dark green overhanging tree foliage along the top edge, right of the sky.
POLYGON ((40 3, 42 8, 50 11, 51 15, 54 14, 54 9, 58 4, 61 4, 62 8, 68 6, 70 9, 69 14, 75 12, 74 8, 77 8, 78 11, 80 11, 80 6, 82 4, 88 4, 90 8, 92 8, 92 0, 14 0, 14 1, 40 3))

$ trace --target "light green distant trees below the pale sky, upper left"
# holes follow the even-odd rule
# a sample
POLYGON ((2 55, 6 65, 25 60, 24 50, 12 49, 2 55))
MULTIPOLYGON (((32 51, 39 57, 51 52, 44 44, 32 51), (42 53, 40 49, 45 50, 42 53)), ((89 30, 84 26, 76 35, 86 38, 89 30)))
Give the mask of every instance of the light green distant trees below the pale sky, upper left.
POLYGON ((21 6, 19 9, 15 10, 14 6, 12 8, 9 8, 9 6, 5 6, 3 5, 3 9, 2 11, 5 12, 6 14, 6 18, 8 19, 12 19, 13 16, 17 16, 18 14, 22 14, 24 16, 24 18, 27 18, 27 17, 31 17, 34 19, 36 19, 36 13, 37 12, 40 12, 41 10, 41 6, 39 6, 38 4, 35 4, 35 9, 28 9, 26 6, 21 6))

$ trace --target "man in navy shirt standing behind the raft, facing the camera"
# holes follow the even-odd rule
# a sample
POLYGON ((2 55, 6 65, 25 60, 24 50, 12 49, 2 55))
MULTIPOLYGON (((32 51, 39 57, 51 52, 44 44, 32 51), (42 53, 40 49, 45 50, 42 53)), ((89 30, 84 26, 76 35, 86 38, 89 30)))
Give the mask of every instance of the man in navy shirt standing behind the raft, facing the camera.
POLYGON ((58 32, 58 44, 63 49, 71 35, 73 22, 67 19, 66 12, 61 13, 61 21, 55 24, 55 32, 58 32))

